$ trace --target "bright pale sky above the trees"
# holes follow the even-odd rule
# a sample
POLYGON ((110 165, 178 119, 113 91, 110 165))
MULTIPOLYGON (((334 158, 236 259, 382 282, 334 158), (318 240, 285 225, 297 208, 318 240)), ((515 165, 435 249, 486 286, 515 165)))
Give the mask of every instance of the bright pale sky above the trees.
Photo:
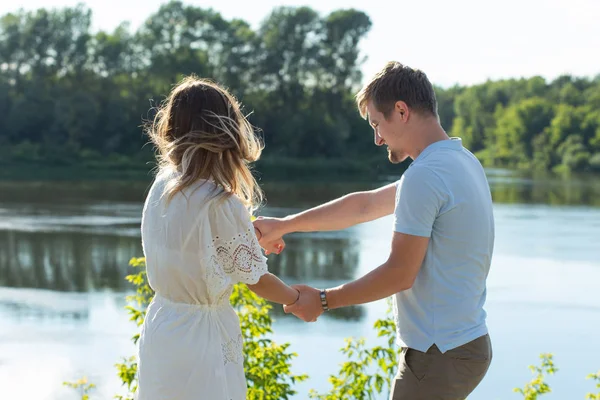
MULTIPOLYGON (((81 1, 81 0, 80 0, 81 1)), ((77 0, 2 1, 0 15, 19 7, 74 6, 77 0)), ((165 0, 83 0, 95 29, 122 21, 137 28, 165 0)), ((436 84, 561 74, 600 74, 600 0, 188 0, 253 26, 280 5, 307 5, 322 14, 365 11, 373 27, 362 42, 368 77, 397 60, 427 73, 436 84)))

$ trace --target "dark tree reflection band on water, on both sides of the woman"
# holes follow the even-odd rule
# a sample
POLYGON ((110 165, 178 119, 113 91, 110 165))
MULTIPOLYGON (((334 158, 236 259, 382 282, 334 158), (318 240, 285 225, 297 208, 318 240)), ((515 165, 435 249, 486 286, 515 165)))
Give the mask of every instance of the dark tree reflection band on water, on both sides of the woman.
MULTIPOLYGON (((296 282, 347 281, 355 276, 358 242, 352 238, 292 236, 269 269, 296 282)), ((138 237, 78 232, 0 230, 0 285, 58 291, 123 290, 138 237)))

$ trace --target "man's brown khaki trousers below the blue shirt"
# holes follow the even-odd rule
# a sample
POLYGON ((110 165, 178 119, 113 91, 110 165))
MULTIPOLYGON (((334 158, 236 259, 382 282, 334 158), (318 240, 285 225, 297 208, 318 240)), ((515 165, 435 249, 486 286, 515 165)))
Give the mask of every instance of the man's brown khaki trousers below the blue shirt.
POLYGON ((390 400, 464 400, 479 385, 491 361, 489 335, 444 354, 436 345, 426 353, 404 348, 390 400))

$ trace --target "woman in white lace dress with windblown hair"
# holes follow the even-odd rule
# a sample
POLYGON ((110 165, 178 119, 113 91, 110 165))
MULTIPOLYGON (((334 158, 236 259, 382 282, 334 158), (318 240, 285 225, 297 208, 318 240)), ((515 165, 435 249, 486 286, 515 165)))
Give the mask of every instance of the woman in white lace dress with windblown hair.
POLYGON ((248 164, 262 147, 233 96, 194 77, 172 90, 148 133, 159 170, 142 244, 156 295, 139 341, 138 399, 245 400, 233 285, 280 304, 299 297, 267 271, 251 223, 261 194, 248 164))

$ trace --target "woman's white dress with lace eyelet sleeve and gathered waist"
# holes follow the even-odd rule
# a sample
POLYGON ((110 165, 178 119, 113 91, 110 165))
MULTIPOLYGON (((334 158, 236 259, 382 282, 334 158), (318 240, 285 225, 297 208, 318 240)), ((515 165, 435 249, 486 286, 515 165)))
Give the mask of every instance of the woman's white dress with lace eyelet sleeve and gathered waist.
POLYGON ((156 295, 139 340, 138 400, 245 400, 242 335, 233 285, 267 273, 241 201, 211 199, 202 181, 167 205, 172 173, 156 178, 144 205, 142 244, 156 295))

